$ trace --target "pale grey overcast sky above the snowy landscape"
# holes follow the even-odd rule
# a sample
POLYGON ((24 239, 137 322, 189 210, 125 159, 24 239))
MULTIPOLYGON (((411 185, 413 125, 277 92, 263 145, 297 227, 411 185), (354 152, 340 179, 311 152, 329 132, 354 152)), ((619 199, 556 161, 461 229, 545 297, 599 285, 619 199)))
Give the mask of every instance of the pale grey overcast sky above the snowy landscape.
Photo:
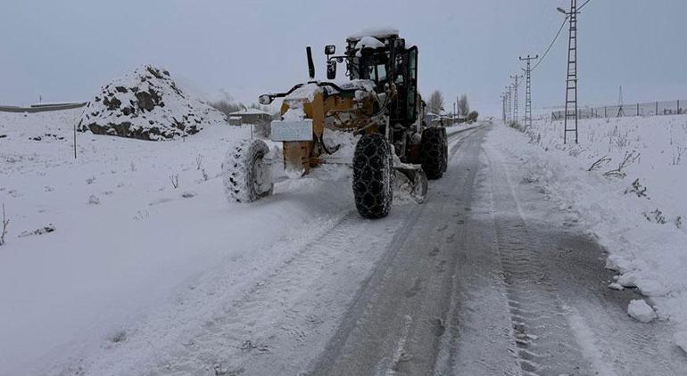
MULTIPOLYGON (((580 4, 584 0, 579 0, 580 4)), ((243 102, 306 80, 305 45, 324 79, 324 45, 343 51, 359 29, 392 26, 419 48, 419 85, 447 109, 500 112, 499 94, 542 54, 569 0, 0 1, 0 104, 89 100, 140 64, 169 69, 195 91, 243 102), (451 99, 448 99, 451 98, 451 99)), ((579 16, 580 102, 687 99, 687 1, 591 0, 579 16)), ((533 76, 536 108, 565 98, 567 29, 533 76)), ((521 93, 524 97, 524 91, 521 93)))

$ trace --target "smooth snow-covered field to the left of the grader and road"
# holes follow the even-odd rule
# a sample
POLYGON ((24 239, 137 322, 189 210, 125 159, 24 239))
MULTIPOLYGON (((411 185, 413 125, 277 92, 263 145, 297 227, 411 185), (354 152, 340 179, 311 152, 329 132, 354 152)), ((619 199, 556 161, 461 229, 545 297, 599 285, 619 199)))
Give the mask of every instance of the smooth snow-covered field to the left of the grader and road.
MULTIPOLYGON (((352 208, 347 166, 277 184, 251 206, 229 204, 220 164, 229 140, 250 137, 247 126, 159 143, 79 133, 74 159, 80 113, 0 112, 0 203, 10 219, 0 247, 0 374, 44 374, 46 364, 105 351, 145 317, 167 331, 173 323, 160 313, 207 290, 202 274, 221 265, 227 280, 205 282, 239 290, 294 251, 269 246, 297 244, 352 208)), ((194 307, 187 318, 216 308, 194 307)))

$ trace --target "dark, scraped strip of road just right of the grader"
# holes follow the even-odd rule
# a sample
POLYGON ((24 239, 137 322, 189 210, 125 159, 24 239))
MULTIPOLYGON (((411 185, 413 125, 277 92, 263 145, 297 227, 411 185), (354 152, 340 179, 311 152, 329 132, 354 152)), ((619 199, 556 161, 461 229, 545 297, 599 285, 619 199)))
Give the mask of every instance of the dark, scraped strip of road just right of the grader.
POLYGON ((310 374, 431 374, 443 337, 451 330, 459 262, 453 249, 469 213, 477 167, 472 151, 481 143, 470 135, 450 135, 447 175, 432 183, 426 204, 409 214, 412 219, 361 286, 360 298, 310 374), (464 158, 456 157, 459 150, 465 150, 460 154, 464 158))

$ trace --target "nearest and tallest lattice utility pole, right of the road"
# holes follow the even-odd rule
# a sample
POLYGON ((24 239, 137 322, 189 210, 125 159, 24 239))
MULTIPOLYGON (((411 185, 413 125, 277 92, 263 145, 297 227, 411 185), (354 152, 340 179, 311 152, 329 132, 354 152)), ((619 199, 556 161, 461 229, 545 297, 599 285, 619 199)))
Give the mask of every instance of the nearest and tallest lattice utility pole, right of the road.
POLYGON ((567 37, 566 113, 563 120, 563 143, 568 132, 575 133, 577 143, 577 0, 570 0, 570 12, 558 8, 569 21, 567 37))

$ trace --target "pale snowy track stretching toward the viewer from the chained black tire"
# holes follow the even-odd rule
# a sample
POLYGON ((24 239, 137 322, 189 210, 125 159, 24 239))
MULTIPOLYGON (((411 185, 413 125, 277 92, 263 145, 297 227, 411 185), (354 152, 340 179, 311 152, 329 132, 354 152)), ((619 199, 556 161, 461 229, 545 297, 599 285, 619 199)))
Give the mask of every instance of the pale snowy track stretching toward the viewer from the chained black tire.
POLYGON ((352 296, 402 219, 372 223, 350 212, 206 320, 151 373, 299 372, 335 329, 345 297, 352 296))

